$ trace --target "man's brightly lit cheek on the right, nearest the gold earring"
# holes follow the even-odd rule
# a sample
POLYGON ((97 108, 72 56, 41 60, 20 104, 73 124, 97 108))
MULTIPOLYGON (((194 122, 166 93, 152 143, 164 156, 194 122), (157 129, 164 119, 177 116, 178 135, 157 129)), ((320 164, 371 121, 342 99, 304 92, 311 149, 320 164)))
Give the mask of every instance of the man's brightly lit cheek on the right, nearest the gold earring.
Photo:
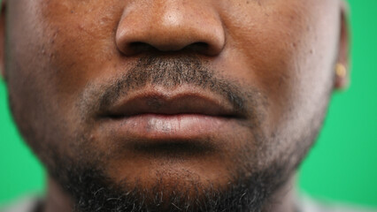
POLYGON ((315 102, 327 102, 338 13, 335 5, 326 4, 278 0, 250 2, 246 7, 228 5, 229 55, 238 55, 247 67, 238 71, 245 83, 268 96, 270 129, 287 125, 288 120, 297 125, 296 114, 312 116, 315 102))

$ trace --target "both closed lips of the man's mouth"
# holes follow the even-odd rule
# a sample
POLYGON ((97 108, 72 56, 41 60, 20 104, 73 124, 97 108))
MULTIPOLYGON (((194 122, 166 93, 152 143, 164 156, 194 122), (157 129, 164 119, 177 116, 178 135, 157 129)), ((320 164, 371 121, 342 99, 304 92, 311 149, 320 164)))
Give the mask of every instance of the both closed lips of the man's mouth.
POLYGON ((192 87, 171 91, 154 87, 119 99, 105 117, 118 136, 146 141, 204 139, 221 133, 242 115, 219 95, 192 87))

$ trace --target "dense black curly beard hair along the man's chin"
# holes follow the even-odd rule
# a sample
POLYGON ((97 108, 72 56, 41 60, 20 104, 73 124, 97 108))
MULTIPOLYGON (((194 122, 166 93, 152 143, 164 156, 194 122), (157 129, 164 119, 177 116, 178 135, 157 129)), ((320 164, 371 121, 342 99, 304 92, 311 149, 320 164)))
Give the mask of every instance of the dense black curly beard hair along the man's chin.
POLYGON ((285 181, 278 177, 283 171, 271 169, 271 173, 255 173, 250 178, 228 182, 225 189, 197 182, 170 184, 166 189, 167 185, 162 183, 166 176, 157 176, 154 186, 147 188, 142 184, 129 185, 127 179, 113 184, 104 173, 88 167, 70 171, 64 187, 73 194, 74 211, 77 212, 258 212, 262 211, 266 198, 285 181))

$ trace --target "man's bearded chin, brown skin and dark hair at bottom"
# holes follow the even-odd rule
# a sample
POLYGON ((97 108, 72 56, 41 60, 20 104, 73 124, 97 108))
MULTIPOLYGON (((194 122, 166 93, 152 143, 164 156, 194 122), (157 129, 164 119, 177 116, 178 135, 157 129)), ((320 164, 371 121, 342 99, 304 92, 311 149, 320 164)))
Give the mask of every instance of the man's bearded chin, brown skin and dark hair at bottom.
MULTIPOLYGON (((161 171, 114 181, 99 170, 70 180, 76 211, 260 211, 275 182, 262 178, 205 179, 189 170, 161 171), (137 178, 139 177, 139 178, 137 178), (73 184, 72 184, 73 183, 73 184)), ((256 177, 258 174, 256 175, 256 177)))

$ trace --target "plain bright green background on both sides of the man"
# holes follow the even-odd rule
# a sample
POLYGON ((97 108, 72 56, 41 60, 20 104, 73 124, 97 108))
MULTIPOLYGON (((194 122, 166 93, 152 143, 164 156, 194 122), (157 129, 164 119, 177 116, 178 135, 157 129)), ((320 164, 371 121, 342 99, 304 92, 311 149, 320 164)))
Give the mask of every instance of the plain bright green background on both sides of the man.
MULTIPOLYGON (((377 0, 350 0, 350 88, 335 93, 319 140, 298 174, 315 198, 377 208, 377 0)), ((0 204, 42 193, 42 166, 12 124, 0 82, 0 204)))

